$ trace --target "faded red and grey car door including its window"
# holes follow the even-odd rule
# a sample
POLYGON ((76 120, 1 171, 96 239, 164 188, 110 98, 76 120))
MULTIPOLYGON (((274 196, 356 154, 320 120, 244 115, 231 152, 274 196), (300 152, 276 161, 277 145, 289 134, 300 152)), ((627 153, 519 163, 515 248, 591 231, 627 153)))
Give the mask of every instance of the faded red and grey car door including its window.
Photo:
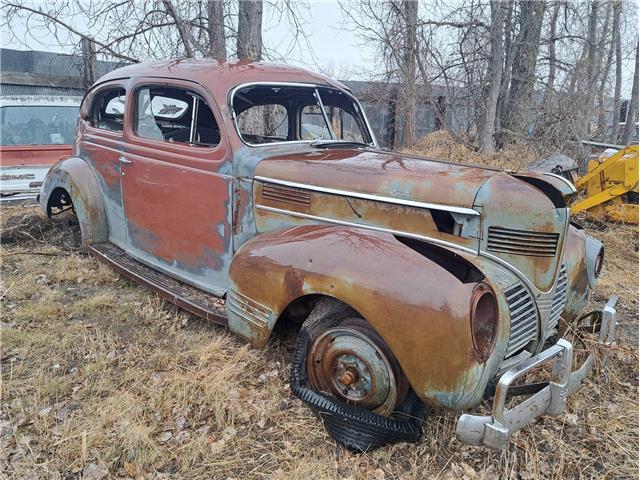
POLYGON ((232 177, 218 111, 191 82, 140 78, 130 92, 120 157, 127 251, 222 295, 232 255, 232 177))

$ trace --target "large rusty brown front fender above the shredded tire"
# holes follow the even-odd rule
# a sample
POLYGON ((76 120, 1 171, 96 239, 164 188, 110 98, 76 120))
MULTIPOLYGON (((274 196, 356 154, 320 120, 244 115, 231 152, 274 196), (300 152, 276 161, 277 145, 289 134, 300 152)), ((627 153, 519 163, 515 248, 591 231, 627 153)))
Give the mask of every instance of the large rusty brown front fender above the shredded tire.
MULTIPOLYGON (((227 314, 232 331, 262 346, 291 302, 313 294, 334 297, 385 340, 423 401, 466 408, 482 399, 502 360, 494 354, 482 361, 473 347, 475 285, 393 235, 308 225, 258 235, 236 253, 227 314)), ((504 322, 497 338, 508 339, 504 322)))

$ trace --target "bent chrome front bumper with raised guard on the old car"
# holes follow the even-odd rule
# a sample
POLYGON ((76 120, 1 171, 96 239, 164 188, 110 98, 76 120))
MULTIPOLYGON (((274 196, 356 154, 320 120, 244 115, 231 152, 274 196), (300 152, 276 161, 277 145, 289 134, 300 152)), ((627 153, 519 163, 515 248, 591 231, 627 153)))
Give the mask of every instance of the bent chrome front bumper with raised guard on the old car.
MULTIPOLYGON (((615 335, 617 301, 617 295, 612 296, 602 310, 600 341, 604 344, 610 344, 615 335)), ((558 340, 552 347, 505 372, 496 386, 492 414, 460 416, 456 425, 456 437, 472 445, 486 445, 496 449, 506 447, 510 435, 540 415, 560 415, 564 411, 568 395, 580 387, 593 364, 591 354, 580 368, 572 371, 573 345, 563 338, 558 340), (546 362, 553 362, 549 384, 517 406, 505 409, 509 387, 513 382, 546 362)))

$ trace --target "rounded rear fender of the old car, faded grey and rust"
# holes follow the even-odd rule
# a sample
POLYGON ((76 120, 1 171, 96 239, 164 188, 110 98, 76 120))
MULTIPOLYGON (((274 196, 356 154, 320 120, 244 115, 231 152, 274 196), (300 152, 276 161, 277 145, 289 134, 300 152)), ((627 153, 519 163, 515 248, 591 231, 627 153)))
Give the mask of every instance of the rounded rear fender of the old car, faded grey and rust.
POLYGON ((59 188, 71 196, 80 223, 82 244, 87 246, 106 242, 109 238, 109 224, 100 186, 89 165, 79 157, 71 157, 51 167, 40 190, 40 206, 47 215, 51 195, 59 188))

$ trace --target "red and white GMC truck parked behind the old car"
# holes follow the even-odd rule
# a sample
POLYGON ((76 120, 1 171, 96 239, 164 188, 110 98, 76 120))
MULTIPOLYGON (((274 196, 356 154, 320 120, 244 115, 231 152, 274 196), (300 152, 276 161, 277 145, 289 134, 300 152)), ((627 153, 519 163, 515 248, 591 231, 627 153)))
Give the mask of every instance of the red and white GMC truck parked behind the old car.
POLYGON ((0 201, 35 198, 51 165, 71 155, 81 100, 0 99, 0 201))

